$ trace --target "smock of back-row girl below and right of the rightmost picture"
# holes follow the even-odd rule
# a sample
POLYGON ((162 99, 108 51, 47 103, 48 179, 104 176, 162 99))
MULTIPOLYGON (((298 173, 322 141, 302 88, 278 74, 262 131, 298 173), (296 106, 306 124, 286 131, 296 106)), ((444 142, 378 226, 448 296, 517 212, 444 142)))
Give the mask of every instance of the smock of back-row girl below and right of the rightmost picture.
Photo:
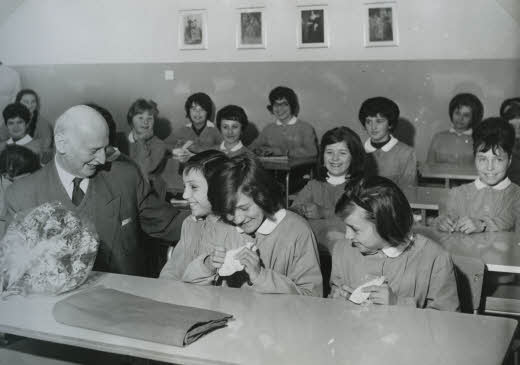
POLYGON ((473 130, 458 133, 450 128, 433 136, 428 150, 428 163, 450 163, 472 165, 473 156, 473 130))

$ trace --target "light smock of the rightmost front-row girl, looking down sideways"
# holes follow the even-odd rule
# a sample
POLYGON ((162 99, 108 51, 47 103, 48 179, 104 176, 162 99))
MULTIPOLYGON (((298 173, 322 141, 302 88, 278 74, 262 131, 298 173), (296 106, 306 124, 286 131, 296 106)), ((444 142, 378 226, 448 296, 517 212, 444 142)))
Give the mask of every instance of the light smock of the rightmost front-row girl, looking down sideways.
POLYGON ((450 255, 437 243, 414 234, 406 247, 389 247, 363 255, 350 241, 336 244, 332 255, 332 290, 352 289, 384 276, 398 305, 459 310, 457 283, 450 255))

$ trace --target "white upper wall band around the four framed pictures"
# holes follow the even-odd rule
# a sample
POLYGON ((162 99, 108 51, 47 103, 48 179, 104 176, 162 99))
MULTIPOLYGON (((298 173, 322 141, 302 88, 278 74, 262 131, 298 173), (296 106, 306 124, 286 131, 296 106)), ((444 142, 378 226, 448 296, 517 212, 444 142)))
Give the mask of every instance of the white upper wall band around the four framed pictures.
MULTIPOLYGON (((518 0, 514 0, 518 1, 518 0)), ((518 6, 501 0, 397 0, 399 47, 363 46, 362 0, 328 4, 330 47, 296 48, 294 0, 25 0, 0 17, 12 65, 323 60, 513 59, 518 6), (235 48, 236 8, 263 5, 267 48, 235 48), (179 50, 178 11, 208 10, 208 49, 179 50), (3 20, 3 21, 2 21, 3 20)))

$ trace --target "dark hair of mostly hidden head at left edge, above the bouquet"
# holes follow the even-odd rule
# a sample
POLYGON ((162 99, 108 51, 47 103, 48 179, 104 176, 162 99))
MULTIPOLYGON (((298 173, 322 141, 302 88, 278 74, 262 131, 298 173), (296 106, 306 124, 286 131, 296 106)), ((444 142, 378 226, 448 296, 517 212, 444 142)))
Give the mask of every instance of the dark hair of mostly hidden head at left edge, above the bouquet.
POLYGON ((0 153, 0 174, 10 178, 33 173, 40 167, 38 155, 27 147, 11 144, 0 153))

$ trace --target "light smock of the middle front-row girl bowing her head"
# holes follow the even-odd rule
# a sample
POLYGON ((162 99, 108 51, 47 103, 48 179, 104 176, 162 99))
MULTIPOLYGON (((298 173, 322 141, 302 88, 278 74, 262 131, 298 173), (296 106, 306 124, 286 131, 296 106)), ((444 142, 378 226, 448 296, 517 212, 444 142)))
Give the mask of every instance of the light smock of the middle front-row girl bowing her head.
MULTIPOLYGON (((302 217, 280 209, 272 219, 267 218, 260 225, 254 237, 233 228, 236 234, 228 234, 223 242, 224 247, 231 250, 253 242, 258 249, 262 268, 254 281, 248 282, 249 276, 245 271, 240 271, 223 277, 223 285, 260 293, 323 296, 316 239, 302 217)), ((206 285, 213 282, 215 272, 204 265, 206 256, 201 255, 188 265, 183 281, 206 285)))

